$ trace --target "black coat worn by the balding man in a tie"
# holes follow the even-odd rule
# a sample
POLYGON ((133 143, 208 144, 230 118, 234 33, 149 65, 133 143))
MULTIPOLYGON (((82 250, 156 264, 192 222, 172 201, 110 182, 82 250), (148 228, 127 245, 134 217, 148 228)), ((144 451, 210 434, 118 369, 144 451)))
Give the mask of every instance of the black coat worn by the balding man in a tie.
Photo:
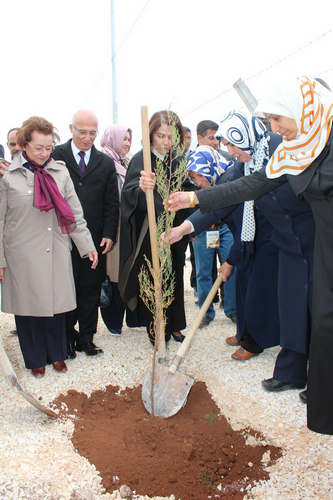
POLYGON ((81 259, 73 245, 72 261, 75 281, 81 285, 96 285, 105 279, 106 274, 106 256, 102 255, 104 247, 100 247, 100 243, 103 238, 116 241, 119 220, 116 170, 113 160, 93 146, 88 165, 81 175, 72 152, 71 142, 72 139, 57 146, 52 157, 66 163, 83 208, 84 218, 98 251, 99 263, 93 270, 89 259, 81 259))

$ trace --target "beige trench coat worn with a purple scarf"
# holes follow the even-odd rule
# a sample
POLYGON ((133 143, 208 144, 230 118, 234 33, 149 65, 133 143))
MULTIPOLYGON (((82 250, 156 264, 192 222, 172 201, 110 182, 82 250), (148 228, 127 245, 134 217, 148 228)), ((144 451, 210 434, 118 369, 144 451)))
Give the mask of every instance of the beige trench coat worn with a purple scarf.
POLYGON ((54 209, 33 207, 34 174, 22 166, 22 159, 14 158, 0 183, 2 311, 53 316, 76 307, 70 238, 81 257, 95 246, 65 164, 51 160, 45 168, 74 214, 76 229, 70 236, 62 234, 54 209))

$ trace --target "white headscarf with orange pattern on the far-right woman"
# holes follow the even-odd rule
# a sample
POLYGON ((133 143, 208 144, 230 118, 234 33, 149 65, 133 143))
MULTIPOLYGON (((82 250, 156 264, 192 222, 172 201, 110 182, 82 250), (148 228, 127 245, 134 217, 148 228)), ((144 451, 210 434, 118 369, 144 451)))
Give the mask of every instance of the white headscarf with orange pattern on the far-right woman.
POLYGON ((328 141, 333 118, 333 93, 306 76, 287 79, 260 100, 256 115, 262 113, 295 120, 297 136, 284 138, 267 167, 269 178, 299 175, 320 155, 328 141))

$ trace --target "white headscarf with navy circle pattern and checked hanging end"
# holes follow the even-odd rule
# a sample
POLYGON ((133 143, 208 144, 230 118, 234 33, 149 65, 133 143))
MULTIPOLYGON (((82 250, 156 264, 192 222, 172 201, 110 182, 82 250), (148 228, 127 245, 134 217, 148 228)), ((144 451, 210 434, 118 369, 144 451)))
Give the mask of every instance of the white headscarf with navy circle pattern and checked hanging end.
MULTIPOLYGON (((250 123, 241 111, 231 111, 220 123, 216 133, 225 140, 252 156, 244 163, 244 175, 250 175, 269 160, 268 135, 265 125, 251 117, 250 123)), ((242 241, 253 241, 256 231, 254 201, 246 201, 243 210, 242 241)))

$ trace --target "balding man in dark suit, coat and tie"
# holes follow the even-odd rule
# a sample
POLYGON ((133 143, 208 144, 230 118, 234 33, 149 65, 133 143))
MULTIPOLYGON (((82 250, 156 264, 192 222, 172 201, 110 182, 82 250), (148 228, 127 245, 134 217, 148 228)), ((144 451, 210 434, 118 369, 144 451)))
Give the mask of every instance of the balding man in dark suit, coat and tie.
POLYGON ((106 275, 106 254, 116 240, 119 219, 113 160, 94 146, 98 134, 96 116, 88 110, 78 111, 69 128, 73 138, 57 146, 52 156, 66 163, 99 254, 99 264, 95 270, 91 269, 90 261, 80 258, 73 243, 77 308, 66 313, 67 359, 75 358, 76 351, 87 356, 103 352, 93 343, 93 335, 97 329, 101 283, 106 275), (77 321, 79 332, 75 330, 77 321))

